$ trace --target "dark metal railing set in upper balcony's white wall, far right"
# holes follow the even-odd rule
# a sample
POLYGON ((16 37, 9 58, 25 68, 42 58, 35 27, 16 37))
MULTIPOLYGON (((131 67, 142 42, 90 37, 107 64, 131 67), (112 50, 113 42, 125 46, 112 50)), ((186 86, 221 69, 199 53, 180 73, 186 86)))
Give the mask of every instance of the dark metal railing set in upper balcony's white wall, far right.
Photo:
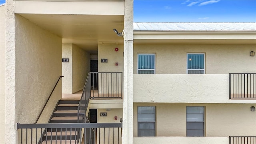
POLYGON ((230 73, 229 99, 256 98, 256 73, 230 73))

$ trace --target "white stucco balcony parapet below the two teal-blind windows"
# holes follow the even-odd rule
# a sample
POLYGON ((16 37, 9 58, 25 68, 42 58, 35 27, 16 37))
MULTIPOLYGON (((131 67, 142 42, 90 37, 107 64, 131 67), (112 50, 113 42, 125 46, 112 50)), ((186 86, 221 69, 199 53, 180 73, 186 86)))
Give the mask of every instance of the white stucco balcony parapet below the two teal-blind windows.
MULTIPOLYGON (((254 87, 254 97, 255 92, 254 87)), ((256 103, 229 99, 228 74, 134 74, 133 98, 133 102, 256 103)))

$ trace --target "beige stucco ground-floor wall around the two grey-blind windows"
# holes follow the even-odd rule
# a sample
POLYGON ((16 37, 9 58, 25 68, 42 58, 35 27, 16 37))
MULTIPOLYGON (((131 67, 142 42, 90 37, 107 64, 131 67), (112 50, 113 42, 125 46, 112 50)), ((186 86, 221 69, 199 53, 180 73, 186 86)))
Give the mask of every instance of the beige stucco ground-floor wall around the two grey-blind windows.
POLYGON ((205 136, 255 136, 255 104, 134 103, 133 134, 137 136, 137 107, 156 106, 156 136, 186 136, 186 106, 205 106, 205 136))

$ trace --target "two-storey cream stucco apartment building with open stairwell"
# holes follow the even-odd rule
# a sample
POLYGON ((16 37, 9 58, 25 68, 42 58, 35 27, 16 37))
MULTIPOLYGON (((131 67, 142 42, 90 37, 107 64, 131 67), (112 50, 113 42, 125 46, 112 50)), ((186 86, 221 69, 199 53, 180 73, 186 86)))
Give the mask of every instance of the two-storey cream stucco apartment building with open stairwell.
POLYGON ((0 143, 256 144, 256 23, 134 23, 132 0, 0 10, 0 143), (46 124, 80 90, 78 123, 46 124))

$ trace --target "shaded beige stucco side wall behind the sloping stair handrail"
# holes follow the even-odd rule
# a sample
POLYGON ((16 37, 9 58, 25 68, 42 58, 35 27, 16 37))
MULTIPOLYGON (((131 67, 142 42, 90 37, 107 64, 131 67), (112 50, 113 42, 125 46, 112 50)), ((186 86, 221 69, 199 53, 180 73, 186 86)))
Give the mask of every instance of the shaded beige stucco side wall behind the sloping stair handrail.
MULTIPOLYGON (((34 123, 61 76, 62 39, 15 15, 15 123, 34 123)), ((61 81, 38 123, 47 123, 61 98, 61 81)), ((12 109, 12 108, 11 108, 12 109)), ((8 117, 7 117, 8 118, 8 117)))

